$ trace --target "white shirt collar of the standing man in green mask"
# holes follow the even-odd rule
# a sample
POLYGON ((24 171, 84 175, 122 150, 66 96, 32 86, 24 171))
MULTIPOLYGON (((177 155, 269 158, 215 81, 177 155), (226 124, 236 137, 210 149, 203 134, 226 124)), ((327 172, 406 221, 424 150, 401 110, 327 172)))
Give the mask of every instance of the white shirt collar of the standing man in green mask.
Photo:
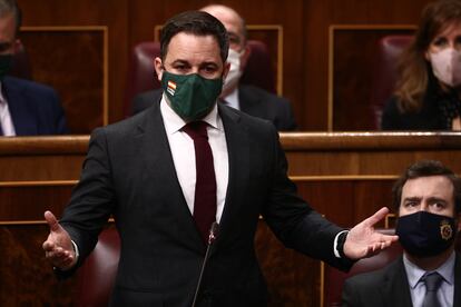
MULTIPOLYGON (((161 112, 161 117, 164 118, 164 125, 165 125, 166 132, 168 135, 173 135, 179 131, 180 129, 183 129, 183 127, 186 126, 187 122, 171 109, 171 107, 168 105, 166 99, 167 98, 164 93, 161 96, 161 101, 160 101, 160 112, 161 112)), ((220 120, 218 120, 218 118, 219 118, 219 113, 217 110, 217 103, 215 103, 212 111, 206 117, 204 117, 202 120, 215 129, 223 130, 223 125, 220 120)))

